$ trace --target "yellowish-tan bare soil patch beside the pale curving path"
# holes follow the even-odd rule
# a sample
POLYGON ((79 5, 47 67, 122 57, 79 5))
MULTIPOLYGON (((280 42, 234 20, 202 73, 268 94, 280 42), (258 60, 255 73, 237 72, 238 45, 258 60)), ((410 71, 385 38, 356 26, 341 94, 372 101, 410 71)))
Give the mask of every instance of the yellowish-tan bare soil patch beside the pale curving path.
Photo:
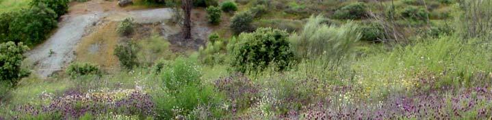
POLYGON ((118 23, 109 22, 83 37, 75 49, 76 61, 97 63, 104 70, 118 68, 118 58, 114 55, 114 48, 118 44, 116 27, 118 23))

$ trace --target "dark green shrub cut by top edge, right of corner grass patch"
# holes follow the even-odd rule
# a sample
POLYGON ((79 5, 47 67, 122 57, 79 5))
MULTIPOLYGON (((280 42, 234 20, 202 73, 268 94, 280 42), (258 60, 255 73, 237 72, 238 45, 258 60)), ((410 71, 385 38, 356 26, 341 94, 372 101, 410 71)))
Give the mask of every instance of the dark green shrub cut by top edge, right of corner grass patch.
POLYGON ((58 17, 62 16, 66 12, 68 12, 68 3, 69 0, 32 0, 31 6, 37 6, 40 3, 44 3, 51 10, 55 11, 58 17))

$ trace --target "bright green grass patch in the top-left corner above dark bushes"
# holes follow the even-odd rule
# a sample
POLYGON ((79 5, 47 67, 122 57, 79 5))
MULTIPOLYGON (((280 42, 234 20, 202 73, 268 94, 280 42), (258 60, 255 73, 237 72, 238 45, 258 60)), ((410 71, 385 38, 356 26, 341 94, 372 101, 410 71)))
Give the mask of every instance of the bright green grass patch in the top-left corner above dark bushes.
POLYGON ((11 12, 21 10, 29 6, 31 0, 0 0, 0 14, 3 12, 11 12))

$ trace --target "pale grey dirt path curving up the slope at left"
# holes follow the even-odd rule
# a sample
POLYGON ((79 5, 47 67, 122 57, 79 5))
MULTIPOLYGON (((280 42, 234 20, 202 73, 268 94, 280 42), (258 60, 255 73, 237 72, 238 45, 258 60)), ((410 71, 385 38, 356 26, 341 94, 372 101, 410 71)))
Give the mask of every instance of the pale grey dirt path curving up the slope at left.
POLYGON ((38 76, 47 78, 53 72, 63 70, 75 59, 75 46, 84 35, 91 32, 90 27, 97 25, 103 18, 117 21, 127 17, 133 17, 137 23, 156 23, 170 19, 172 11, 169 8, 159 8, 131 12, 118 10, 68 14, 62 17, 58 29, 48 40, 26 53, 27 59, 34 63, 33 67, 38 76))

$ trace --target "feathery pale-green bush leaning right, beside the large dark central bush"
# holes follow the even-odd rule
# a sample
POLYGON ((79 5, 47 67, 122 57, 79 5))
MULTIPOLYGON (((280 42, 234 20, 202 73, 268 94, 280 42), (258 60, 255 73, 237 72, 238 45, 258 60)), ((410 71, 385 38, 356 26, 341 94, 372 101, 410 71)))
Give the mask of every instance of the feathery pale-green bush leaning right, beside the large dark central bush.
POLYGON ((340 27, 328 26, 322 24, 323 20, 322 16, 311 16, 302 33, 292 35, 294 50, 300 58, 322 59, 326 63, 322 67, 338 65, 360 40, 359 27, 352 22, 340 27))

